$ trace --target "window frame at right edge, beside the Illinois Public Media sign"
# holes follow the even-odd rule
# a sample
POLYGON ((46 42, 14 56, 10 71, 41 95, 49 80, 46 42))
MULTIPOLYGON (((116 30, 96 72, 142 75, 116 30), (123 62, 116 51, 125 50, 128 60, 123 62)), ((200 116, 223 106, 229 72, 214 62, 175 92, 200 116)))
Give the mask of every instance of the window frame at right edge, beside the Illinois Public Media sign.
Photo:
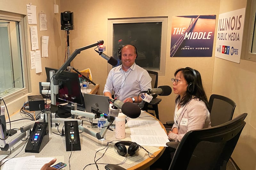
MULTIPOLYGON (((246 5, 246 18, 244 25, 244 43, 243 43, 243 57, 242 59, 256 62, 256 53, 252 53, 252 41, 255 24, 256 2, 248 0, 246 5), (253 24, 251 24, 253 23, 253 24)), ((256 31, 256 30, 255 30, 256 31)), ((254 37, 256 43, 256 37, 254 37)))

